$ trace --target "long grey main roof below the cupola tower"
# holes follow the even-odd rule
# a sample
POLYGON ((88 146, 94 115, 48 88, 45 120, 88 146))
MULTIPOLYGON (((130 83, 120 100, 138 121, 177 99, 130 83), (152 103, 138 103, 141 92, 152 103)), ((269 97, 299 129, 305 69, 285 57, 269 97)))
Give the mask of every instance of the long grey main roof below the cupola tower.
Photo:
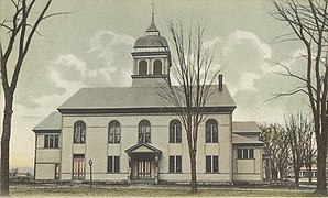
MULTIPOLYGON (((173 87, 178 89, 181 87, 173 87)), ((211 86, 214 94, 210 96, 206 107, 236 107, 234 101, 227 87, 218 91, 218 86, 211 86)), ((129 108, 174 108, 167 105, 163 96, 170 95, 168 89, 160 87, 103 87, 81 88, 58 110, 72 109, 129 109, 129 108), (165 94, 167 91, 167 94, 165 94)))

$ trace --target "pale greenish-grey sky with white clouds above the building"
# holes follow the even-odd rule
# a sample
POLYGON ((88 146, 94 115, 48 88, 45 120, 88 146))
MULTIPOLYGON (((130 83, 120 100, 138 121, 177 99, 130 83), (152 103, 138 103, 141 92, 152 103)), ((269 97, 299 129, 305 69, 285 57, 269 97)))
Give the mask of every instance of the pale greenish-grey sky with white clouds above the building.
MULTIPOLYGON (((44 3, 36 2, 34 18, 44 3)), ((171 46, 167 20, 206 22, 205 43, 216 46, 212 69, 221 69, 237 103, 233 120, 282 123, 284 116, 307 110, 300 94, 270 100, 299 85, 277 75, 284 72, 277 63, 297 74, 305 68, 303 45, 277 38, 291 30, 270 14, 270 1, 54 0, 48 13, 72 13, 42 22, 42 36, 35 35, 24 61, 14 97, 11 167, 33 167, 32 129, 78 89, 131 86, 131 50, 151 23, 152 3, 156 26, 171 46)), ((10 1, 0 0, 0 21, 11 12, 10 1)), ((7 37, 0 29, 3 48, 7 37)))

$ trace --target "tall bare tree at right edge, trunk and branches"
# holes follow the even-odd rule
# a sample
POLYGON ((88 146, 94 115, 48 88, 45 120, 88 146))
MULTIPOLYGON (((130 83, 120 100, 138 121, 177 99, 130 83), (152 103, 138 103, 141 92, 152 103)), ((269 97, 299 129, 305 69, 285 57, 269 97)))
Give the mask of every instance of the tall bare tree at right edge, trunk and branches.
POLYGON ((304 74, 293 73, 286 65, 284 76, 300 80, 304 86, 296 87, 278 96, 291 96, 304 92, 308 96, 314 118, 315 134, 318 146, 317 193, 327 193, 326 158, 327 158, 327 92, 328 92, 328 1, 321 0, 273 0, 275 11, 272 15, 286 23, 292 33, 281 35, 282 41, 300 42, 306 48, 302 56, 306 59, 304 74), (326 57, 326 59, 325 59, 326 57))

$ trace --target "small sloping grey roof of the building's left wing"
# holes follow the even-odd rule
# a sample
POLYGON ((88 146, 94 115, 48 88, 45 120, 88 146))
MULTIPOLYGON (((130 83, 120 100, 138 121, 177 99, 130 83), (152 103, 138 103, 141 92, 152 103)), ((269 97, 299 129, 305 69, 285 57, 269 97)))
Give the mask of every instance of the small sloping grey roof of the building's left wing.
POLYGON ((43 121, 41 121, 32 131, 61 131, 62 114, 58 111, 52 112, 43 121))

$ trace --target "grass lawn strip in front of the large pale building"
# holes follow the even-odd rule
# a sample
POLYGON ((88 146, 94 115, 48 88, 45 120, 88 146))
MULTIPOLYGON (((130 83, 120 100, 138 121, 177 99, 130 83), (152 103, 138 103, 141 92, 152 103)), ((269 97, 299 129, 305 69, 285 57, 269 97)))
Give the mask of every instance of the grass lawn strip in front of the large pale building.
POLYGON ((106 197, 318 197, 314 190, 305 189, 244 189, 236 187, 199 188, 197 194, 189 194, 186 186, 110 186, 95 185, 45 185, 29 184, 10 187, 11 196, 106 196, 106 197))

